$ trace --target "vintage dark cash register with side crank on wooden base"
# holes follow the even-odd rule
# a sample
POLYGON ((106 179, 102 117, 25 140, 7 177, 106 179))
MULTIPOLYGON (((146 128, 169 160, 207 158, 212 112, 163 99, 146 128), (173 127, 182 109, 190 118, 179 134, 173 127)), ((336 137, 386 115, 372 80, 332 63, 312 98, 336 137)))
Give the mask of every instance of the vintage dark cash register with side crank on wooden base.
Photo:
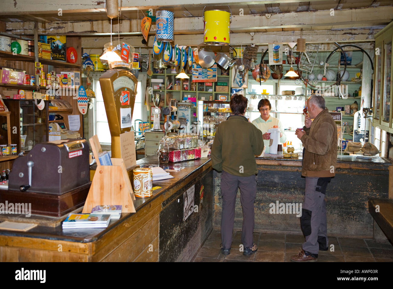
POLYGON ((58 140, 18 156, 0 202, 31 203, 31 213, 60 217, 83 206, 90 188, 89 144, 58 140))

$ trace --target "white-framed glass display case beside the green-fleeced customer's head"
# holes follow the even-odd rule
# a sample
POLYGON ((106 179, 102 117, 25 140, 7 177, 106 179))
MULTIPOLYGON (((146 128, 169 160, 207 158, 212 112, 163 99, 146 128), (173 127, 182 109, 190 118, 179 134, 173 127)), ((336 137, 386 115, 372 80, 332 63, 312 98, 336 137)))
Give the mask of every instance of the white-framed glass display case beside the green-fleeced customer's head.
POLYGON ((229 101, 198 100, 198 135, 213 139, 218 125, 231 115, 229 101))

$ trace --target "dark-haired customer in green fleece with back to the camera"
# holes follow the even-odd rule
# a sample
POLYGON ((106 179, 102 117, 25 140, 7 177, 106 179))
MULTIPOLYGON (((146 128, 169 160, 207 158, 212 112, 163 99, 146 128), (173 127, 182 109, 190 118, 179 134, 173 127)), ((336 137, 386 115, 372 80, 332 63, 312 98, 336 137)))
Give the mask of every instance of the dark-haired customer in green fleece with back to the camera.
POLYGON ((263 151, 263 133, 244 117, 248 99, 234 94, 230 107, 232 114, 220 123, 211 147, 211 166, 222 171, 221 194, 221 252, 230 254, 235 219, 237 188, 243 210, 242 244, 244 255, 256 252, 253 243, 254 202, 257 193, 257 163, 255 155, 263 151))

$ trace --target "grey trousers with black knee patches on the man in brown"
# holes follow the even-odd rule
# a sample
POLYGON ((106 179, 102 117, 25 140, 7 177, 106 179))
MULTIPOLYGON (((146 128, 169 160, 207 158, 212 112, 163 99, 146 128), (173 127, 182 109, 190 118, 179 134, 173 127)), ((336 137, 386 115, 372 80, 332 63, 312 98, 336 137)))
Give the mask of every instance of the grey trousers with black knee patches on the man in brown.
POLYGON ((325 192, 331 178, 306 177, 306 188, 300 217, 300 226, 306 241, 303 250, 318 254, 320 248, 327 248, 325 192))

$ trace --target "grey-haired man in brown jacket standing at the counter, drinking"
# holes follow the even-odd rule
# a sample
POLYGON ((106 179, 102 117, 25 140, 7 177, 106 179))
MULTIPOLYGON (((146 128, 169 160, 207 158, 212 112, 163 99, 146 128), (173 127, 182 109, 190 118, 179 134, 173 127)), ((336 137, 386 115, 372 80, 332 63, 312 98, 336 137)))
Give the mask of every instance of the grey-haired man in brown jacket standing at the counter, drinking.
POLYGON ((328 250, 325 192, 337 163, 337 127, 323 96, 310 96, 307 110, 305 126, 296 130, 304 147, 301 175, 306 186, 300 217, 305 242, 291 257, 295 262, 317 261, 318 251, 328 250))

